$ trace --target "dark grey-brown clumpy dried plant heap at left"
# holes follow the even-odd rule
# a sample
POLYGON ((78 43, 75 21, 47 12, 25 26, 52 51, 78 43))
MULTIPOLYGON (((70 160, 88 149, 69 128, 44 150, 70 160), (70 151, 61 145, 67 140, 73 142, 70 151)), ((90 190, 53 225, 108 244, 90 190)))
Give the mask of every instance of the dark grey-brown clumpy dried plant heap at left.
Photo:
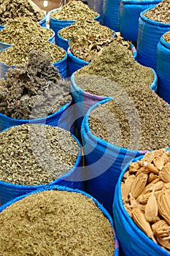
POLYGON ((50 56, 38 50, 6 76, 0 80, 0 113, 11 118, 47 117, 72 101, 69 81, 61 80, 50 56))

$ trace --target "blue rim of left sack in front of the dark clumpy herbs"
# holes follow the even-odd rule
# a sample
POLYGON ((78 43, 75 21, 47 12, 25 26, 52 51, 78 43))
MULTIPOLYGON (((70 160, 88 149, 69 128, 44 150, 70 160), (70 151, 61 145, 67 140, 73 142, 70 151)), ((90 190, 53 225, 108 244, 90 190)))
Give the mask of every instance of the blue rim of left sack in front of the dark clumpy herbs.
MULTIPOLYGON (((41 125, 45 125, 45 124, 41 124, 41 125)), ((11 127, 7 128, 7 129, 10 129, 11 127)), ((5 129, 5 130, 7 130, 5 129)), ((62 129, 62 128, 61 128, 62 129)), ((70 133, 70 135, 72 135, 72 133, 70 133)), ((80 148, 80 151, 79 151, 79 154, 77 156, 77 159, 74 163, 74 166, 65 174, 63 174, 62 176, 56 178, 54 181, 50 182, 49 184, 41 184, 41 185, 34 185, 34 186, 27 186, 27 185, 18 185, 18 184, 12 184, 12 183, 8 183, 8 182, 5 182, 5 181, 1 181, 0 180, 0 187, 1 186, 5 186, 5 187, 9 187, 11 189, 20 189, 20 190, 27 190, 27 189, 43 189, 44 187, 47 187, 47 186, 50 186, 50 185, 55 185, 56 183, 60 182, 60 181, 63 181, 65 178, 69 177, 70 174, 74 173, 74 170, 77 169, 77 166, 80 164, 81 162, 81 159, 82 159, 82 150, 81 150, 81 144, 80 144, 80 141, 78 140, 77 137, 75 137, 74 135, 72 135, 72 137, 74 138, 74 140, 76 140, 79 148, 80 148)), ((68 179, 69 181, 69 179, 68 179)), ((0 207, 1 208, 1 207, 0 207)))

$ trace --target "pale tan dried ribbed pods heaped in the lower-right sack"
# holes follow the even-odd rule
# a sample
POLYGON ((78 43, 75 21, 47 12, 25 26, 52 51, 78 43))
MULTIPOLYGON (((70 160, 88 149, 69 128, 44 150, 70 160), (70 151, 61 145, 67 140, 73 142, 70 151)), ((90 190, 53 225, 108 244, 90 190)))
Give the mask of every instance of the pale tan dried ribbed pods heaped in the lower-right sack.
POLYGON ((136 225, 170 252, 170 151, 147 152, 123 176, 125 210, 136 225))

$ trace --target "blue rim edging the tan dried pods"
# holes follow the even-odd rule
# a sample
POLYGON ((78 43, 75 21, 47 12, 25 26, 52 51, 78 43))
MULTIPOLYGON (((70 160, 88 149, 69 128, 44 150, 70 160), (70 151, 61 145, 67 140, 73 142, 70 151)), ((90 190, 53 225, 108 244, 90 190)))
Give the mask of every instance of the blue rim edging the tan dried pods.
POLYGON ((158 246, 158 244, 155 244, 155 242, 152 241, 152 239, 150 239, 135 223, 134 221, 131 219, 131 217, 128 215, 127 211, 125 210, 124 204, 123 204, 123 200, 121 197, 121 181, 123 179, 124 173, 128 170, 128 167, 130 165, 131 162, 136 162, 139 161, 140 159, 142 159, 144 156, 140 156, 140 157, 135 157, 134 159, 131 159, 128 164, 125 165, 124 169, 121 171, 120 176, 117 180, 117 185, 116 185, 116 190, 117 190, 117 197, 118 197, 118 202, 119 202, 119 207, 120 207, 120 211, 122 211, 122 214, 125 217, 125 221, 128 222, 128 225, 131 225, 131 227, 134 229, 134 231, 138 234, 138 236, 140 236, 142 238, 142 241, 147 240, 147 244, 150 244, 150 246, 154 246, 155 249, 157 251, 160 251, 160 255, 169 255, 169 252, 166 252, 166 250, 162 249, 161 246, 158 246))

